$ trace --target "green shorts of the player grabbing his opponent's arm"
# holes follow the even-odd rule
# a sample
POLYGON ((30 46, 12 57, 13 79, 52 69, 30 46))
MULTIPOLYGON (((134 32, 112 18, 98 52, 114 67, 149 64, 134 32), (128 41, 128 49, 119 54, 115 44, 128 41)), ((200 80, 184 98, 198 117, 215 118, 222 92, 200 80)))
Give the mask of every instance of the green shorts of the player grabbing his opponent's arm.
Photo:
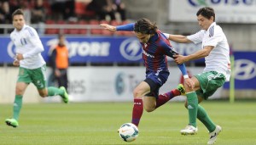
POLYGON ((214 92, 217 91, 218 87, 223 86, 225 82, 225 76, 216 71, 208 71, 198 75, 195 75, 197 80, 200 82, 201 90, 197 90, 197 96, 201 96, 207 100, 214 92))

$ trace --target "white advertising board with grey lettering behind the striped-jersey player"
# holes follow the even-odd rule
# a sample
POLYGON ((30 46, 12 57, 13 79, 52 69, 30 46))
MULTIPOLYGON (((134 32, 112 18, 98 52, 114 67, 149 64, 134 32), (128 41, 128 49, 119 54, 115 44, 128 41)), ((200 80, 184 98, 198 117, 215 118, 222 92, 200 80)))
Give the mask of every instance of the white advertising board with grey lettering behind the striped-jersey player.
MULTIPOLYGON (((193 74, 203 68, 189 68, 193 74)), ((181 72, 171 67, 166 84, 160 93, 170 92, 179 84, 181 72)), ((69 94, 72 102, 124 102, 133 101, 133 89, 145 79, 142 67, 70 67, 68 70, 69 94)), ((214 94, 218 97, 218 93, 214 94)), ((49 98, 52 99, 52 98, 49 98)), ((184 97, 173 99, 184 100, 184 97)), ((53 101, 53 100, 52 100, 53 101)))

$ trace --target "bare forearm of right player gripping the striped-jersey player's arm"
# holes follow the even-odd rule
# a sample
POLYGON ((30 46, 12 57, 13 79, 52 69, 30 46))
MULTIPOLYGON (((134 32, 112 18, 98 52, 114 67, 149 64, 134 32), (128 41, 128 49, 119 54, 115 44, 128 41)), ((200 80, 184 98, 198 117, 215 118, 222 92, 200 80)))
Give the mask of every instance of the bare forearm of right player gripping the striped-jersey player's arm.
POLYGON ((202 58, 207 57, 211 53, 212 49, 213 49, 213 46, 207 46, 207 47, 204 47, 203 49, 201 49, 200 51, 190 54, 188 56, 183 56, 183 55, 177 54, 177 55, 174 55, 174 58, 176 58, 176 59, 174 59, 174 61, 177 64, 183 64, 190 60, 202 59, 202 58))

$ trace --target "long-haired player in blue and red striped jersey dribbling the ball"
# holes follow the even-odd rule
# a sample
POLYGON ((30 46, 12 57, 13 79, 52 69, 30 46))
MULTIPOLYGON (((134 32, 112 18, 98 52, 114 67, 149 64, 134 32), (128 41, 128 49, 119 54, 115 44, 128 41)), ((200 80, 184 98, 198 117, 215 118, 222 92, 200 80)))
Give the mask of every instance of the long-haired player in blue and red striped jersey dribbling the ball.
MULTIPOLYGON (((139 125, 143 115, 143 107, 147 112, 152 112, 175 96, 184 92, 183 86, 171 92, 159 95, 160 87, 166 82, 170 72, 168 70, 166 57, 174 58, 177 54, 171 46, 168 38, 157 29, 157 26, 150 20, 141 19, 136 23, 127 25, 102 24, 108 31, 134 31, 143 48, 143 61, 146 66, 146 79, 142 81, 133 91, 134 105, 132 110, 131 123, 139 125)), ((182 71, 185 82, 194 86, 189 79, 184 64, 177 64, 182 71)))

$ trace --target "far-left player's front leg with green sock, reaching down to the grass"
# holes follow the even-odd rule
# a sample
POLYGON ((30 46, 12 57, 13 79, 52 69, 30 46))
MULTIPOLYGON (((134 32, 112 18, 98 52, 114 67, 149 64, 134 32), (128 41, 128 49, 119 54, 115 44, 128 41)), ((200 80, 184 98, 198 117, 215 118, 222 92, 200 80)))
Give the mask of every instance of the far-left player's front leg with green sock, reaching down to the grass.
POLYGON ((5 120, 5 123, 7 125, 10 125, 13 127, 17 127, 19 125, 18 120, 20 116, 20 109, 22 108, 23 94, 30 82, 31 82, 31 79, 29 77, 28 70, 20 67, 18 80, 15 86, 15 102, 14 102, 14 109, 13 109, 13 117, 11 119, 5 120))

